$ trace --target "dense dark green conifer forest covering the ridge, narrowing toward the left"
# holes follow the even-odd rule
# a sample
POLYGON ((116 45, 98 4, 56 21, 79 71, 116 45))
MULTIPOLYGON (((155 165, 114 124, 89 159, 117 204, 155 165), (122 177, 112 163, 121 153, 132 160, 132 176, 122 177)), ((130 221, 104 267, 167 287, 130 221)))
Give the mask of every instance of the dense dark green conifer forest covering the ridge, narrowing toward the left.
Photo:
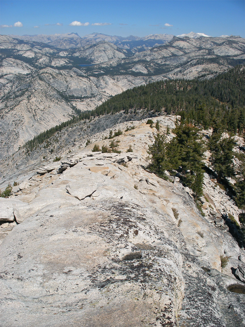
MULTIPOLYGON (((182 120, 195 122, 204 128, 216 127, 232 133, 244 133, 245 66, 239 65, 212 79, 161 80, 134 87, 97 106, 92 111, 80 112, 72 119, 35 136, 24 146, 32 150, 57 131, 78 121, 104 114, 144 109, 146 112, 179 114, 182 120)), ((66 101, 66 95, 59 93, 66 101)))

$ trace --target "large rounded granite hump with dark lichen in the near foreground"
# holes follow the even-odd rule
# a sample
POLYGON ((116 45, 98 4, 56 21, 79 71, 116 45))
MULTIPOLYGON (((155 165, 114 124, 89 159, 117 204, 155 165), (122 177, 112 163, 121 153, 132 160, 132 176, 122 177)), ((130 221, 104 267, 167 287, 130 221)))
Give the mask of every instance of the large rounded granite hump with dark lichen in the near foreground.
POLYGON ((177 326, 182 257, 151 211, 120 199, 51 209, 2 248, 6 327, 177 326))

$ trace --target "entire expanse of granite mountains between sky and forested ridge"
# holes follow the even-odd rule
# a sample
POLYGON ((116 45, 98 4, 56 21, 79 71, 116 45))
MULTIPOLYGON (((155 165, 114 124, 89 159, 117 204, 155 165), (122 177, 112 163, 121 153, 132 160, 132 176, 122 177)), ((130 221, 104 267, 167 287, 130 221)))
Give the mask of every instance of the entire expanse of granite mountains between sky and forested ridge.
POLYGON ((244 39, 239 37, 171 37, 165 45, 135 50, 133 55, 112 43, 164 38, 167 36, 150 35, 144 40, 113 41, 93 34, 86 38, 88 45, 74 41, 81 39, 75 34, 25 40, 0 36, 0 159, 40 132, 70 119, 74 109, 94 109, 111 95, 159 79, 210 78, 244 59, 244 39), (69 42, 74 46, 62 50, 60 43, 52 43, 58 39, 67 47, 69 42), (84 60, 94 65, 80 67, 84 60))

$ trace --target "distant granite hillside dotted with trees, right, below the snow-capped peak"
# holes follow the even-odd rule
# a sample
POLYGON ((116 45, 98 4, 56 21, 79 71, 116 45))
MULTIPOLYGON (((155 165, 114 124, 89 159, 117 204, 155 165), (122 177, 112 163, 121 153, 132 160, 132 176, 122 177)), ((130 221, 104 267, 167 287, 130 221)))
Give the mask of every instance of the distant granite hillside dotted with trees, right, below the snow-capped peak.
POLYGON ((244 39, 239 37, 173 37, 163 46, 135 54, 131 61, 143 60, 149 71, 154 71, 157 64, 171 67, 161 77, 190 79, 226 70, 226 63, 220 56, 244 59, 244 49, 244 39))

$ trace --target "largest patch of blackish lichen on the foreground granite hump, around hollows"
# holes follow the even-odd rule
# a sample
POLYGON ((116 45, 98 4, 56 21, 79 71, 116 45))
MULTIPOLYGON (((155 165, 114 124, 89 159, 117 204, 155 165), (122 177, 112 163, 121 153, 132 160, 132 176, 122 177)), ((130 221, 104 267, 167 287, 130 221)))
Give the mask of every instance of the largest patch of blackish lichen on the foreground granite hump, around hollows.
POLYGON ((156 298, 154 306, 156 305, 157 310, 154 312, 155 317, 152 318, 151 325, 168 326, 175 321, 173 306, 171 305, 168 311, 162 302, 158 301, 165 299, 166 294, 169 294, 170 300, 167 300, 166 306, 176 292, 178 293, 180 280, 175 276, 174 270, 170 272, 168 263, 168 258, 177 258, 178 249, 159 226, 153 223, 153 215, 158 212, 152 213, 150 210, 118 199, 97 202, 96 206, 89 203, 83 214, 87 215, 88 210, 94 217, 92 223, 87 225, 88 235, 103 238, 106 249, 110 250, 108 254, 106 253, 104 263, 93 267, 86 276, 81 274, 82 278, 86 278, 84 294, 89 294, 91 289, 99 292, 100 296, 106 299, 108 309, 125 289, 129 289, 129 296, 132 297, 130 301, 140 302, 152 312, 151 297, 154 293, 156 298), (142 240, 142 243, 134 245, 139 242, 139 235, 149 241, 142 240))

